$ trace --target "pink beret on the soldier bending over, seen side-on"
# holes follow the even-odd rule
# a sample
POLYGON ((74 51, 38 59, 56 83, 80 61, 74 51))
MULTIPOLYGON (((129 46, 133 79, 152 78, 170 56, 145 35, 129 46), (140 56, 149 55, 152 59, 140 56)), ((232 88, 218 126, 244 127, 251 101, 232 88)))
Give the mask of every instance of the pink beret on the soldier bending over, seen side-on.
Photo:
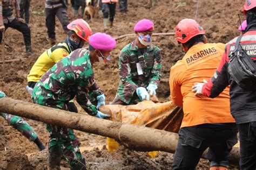
POLYGON ((117 43, 110 35, 97 32, 90 37, 89 44, 100 51, 111 51, 117 43))

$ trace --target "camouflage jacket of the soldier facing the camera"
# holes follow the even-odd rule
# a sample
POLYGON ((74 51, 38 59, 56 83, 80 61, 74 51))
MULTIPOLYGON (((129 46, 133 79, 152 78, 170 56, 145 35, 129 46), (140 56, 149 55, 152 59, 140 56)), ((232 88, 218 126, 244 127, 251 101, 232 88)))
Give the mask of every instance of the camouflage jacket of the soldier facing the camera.
MULTIPOLYGON (((126 45, 119 56, 119 76, 120 83, 116 97, 130 104, 138 87, 146 88, 149 84, 159 84, 161 77, 160 49, 154 45, 138 48, 136 41, 126 45), (143 72, 140 75, 137 69, 138 63, 143 72)), ((135 97, 135 100, 139 100, 139 98, 135 97)))

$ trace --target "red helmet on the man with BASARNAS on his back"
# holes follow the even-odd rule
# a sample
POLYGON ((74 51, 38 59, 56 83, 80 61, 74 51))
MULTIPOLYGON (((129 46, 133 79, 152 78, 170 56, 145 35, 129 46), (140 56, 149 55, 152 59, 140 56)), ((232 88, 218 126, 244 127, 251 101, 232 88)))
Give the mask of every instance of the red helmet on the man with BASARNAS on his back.
POLYGON ((185 43, 199 34, 205 34, 205 31, 194 19, 183 19, 176 26, 176 39, 180 43, 185 43))

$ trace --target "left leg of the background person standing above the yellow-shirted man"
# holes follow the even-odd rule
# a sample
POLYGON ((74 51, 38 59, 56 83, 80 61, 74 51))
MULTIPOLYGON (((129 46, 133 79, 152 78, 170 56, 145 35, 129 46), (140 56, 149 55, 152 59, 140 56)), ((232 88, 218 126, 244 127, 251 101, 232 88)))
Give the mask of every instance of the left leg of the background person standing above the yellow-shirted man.
POLYGON ((45 8, 45 25, 47 27, 47 33, 48 33, 48 37, 49 37, 49 41, 50 41, 51 45, 56 44, 55 16, 56 16, 56 10, 55 9, 45 8))

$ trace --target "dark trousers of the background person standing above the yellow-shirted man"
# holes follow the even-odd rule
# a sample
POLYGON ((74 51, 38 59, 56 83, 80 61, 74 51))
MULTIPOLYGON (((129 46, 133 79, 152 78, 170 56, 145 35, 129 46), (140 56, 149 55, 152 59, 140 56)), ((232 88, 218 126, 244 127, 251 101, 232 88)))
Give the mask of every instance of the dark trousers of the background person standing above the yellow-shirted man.
POLYGON ((66 12, 66 8, 45 8, 45 24, 49 38, 55 38, 55 16, 58 17, 59 22, 62 24, 63 30, 65 32, 69 32, 68 28, 66 27, 69 24, 69 16, 66 12))

